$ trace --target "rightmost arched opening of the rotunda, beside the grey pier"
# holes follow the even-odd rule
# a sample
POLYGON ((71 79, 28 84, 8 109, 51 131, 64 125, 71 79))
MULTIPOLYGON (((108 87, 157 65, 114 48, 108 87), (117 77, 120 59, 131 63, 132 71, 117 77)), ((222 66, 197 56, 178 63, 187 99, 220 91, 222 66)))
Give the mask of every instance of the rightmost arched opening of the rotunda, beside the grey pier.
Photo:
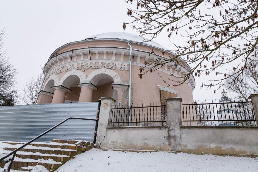
POLYGON ((92 102, 98 101, 101 97, 113 97, 112 84, 114 79, 108 74, 97 74, 91 79, 91 83, 98 89, 92 92, 92 102))

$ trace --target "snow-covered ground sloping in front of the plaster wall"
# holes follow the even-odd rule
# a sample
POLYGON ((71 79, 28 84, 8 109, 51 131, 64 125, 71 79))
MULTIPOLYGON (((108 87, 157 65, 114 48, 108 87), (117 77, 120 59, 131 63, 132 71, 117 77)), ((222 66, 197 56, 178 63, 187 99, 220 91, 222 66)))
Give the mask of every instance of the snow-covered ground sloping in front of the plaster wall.
MULTIPOLYGON (((1 171, 1 169, 0 169, 1 171)), ((15 172, 17 170, 11 170, 15 172)), ((35 168, 33 172, 45 172, 35 168)), ((258 172, 258 158, 171 152, 121 152, 92 149, 56 172, 258 172)))

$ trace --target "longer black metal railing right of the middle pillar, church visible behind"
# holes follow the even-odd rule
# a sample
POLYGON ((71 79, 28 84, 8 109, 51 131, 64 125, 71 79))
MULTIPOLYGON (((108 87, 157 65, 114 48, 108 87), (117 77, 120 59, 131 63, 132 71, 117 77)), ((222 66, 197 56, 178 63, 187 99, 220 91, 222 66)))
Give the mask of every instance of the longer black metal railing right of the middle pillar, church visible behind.
POLYGON ((251 101, 183 102, 182 125, 190 126, 257 126, 251 101))

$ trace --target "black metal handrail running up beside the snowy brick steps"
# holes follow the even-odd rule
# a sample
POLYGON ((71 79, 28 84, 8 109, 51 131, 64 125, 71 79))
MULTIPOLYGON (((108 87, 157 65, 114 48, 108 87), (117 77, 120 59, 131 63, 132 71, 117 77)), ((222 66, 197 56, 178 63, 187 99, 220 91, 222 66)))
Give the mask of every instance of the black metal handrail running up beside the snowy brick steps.
MULTIPOLYGON (((6 156, 2 157, 0 159, 0 163, 7 157, 9 157, 10 155, 13 155, 12 161, 15 157, 15 154, 17 151, 19 151, 20 149, 24 148, 25 146, 27 146, 28 144, 30 144, 31 142, 37 140, 38 138, 40 138, 41 136, 47 134, 49 131, 52 131, 53 129, 55 129, 56 127, 58 127, 59 125, 63 124, 65 121, 68 121, 69 119, 80 119, 80 120, 90 120, 90 121, 97 121, 96 123, 98 123, 98 118, 97 119, 91 119, 91 118, 77 118, 77 117, 68 117, 66 118, 64 121, 61 121, 60 123, 56 124, 54 127, 48 129, 47 131, 45 131, 44 133, 38 135, 37 137, 35 137, 34 139, 28 141, 27 143, 25 143, 24 145, 22 145, 21 147, 18 147, 17 149, 15 149, 14 151, 12 151, 11 153, 7 154, 6 156)), ((9 165, 9 167, 12 166, 12 164, 9 165)))

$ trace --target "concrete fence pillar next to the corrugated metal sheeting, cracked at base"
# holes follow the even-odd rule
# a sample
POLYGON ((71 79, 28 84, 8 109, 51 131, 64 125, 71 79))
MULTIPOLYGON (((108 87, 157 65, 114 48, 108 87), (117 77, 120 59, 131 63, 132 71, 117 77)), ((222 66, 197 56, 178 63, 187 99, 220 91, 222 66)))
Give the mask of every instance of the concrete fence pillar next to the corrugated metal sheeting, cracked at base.
POLYGON ((105 135, 107 133, 106 127, 108 127, 109 115, 115 102, 115 99, 112 97, 102 97, 100 99, 101 105, 98 120, 96 148, 100 148, 101 143, 104 141, 105 135))

